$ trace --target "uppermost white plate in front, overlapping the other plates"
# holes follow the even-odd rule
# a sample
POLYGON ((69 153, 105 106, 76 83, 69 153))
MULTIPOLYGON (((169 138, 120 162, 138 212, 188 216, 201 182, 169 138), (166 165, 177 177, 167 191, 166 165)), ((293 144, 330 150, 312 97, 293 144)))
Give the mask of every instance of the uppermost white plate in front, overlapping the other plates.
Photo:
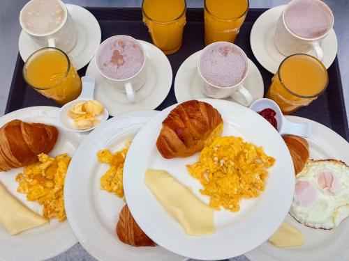
POLYGON ((235 102, 213 99, 202 101, 209 102, 221 113, 223 136, 242 136, 245 141, 262 145, 267 155, 276 158, 276 164, 269 169, 267 187, 260 197, 242 200, 239 212, 215 212, 214 235, 186 235, 144 184, 147 168, 163 169, 184 186, 192 187, 195 196, 202 201, 209 201, 207 196, 200 195, 198 191, 200 182, 186 170, 186 164, 198 161, 198 153, 192 157, 164 159, 156 148, 161 122, 177 104, 151 118, 133 139, 124 167, 124 191, 135 221, 154 242, 188 258, 221 260, 250 251, 279 228, 292 203, 295 172, 281 136, 258 113, 235 102))

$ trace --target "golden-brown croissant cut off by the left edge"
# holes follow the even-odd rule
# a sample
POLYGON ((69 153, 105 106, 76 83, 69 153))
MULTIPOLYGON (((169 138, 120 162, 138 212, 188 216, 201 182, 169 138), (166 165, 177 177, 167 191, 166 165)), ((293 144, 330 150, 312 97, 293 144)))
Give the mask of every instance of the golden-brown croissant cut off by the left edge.
POLYGON ((52 150, 57 137, 54 126, 11 120, 0 129, 0 171, 34 164, 38 154, 52 150))

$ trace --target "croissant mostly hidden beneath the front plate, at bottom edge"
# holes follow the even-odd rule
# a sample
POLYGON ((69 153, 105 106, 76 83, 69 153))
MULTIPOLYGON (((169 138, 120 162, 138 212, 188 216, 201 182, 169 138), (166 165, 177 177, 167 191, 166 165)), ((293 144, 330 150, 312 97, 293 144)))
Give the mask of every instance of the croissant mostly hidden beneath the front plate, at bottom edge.
POLYGON ((130 246, 156 246, 156 244, 144 234, 138 224, 135 223, 135 219, 133 219, 127 205, 124 205, 121 209, 116 232, 120 241, 130 246))

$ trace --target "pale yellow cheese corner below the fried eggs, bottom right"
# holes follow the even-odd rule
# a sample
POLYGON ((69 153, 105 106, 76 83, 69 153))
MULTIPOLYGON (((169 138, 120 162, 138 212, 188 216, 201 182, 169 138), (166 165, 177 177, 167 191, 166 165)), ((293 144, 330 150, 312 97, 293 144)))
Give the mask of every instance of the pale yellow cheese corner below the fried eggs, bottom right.
POLYGON ((302 232, 286 222, 283 222, 268 240, 276 247, 302 246, 304 244, 302 232))

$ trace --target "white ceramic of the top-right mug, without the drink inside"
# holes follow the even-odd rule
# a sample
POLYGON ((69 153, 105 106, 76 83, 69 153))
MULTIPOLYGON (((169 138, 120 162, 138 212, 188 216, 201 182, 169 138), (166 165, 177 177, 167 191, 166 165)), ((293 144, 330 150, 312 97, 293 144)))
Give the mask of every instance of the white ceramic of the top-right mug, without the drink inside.
POLYGON ((323 6, 323 8, 325 8, 328 11, 329 15, 332 17, 332 25, 329 27, 327 31, 325 31, 325 33, 323 33, 322 35, 316 38, 304 38, 293 33, 288 28, 285 22, 285 13, 287 12, 289 6, 295 1, 297 0, 292 0, 290 1, 290 3, 288 3, 288 5, 285 7, 285 9, 283 10, 283 13, 279 18, 279 22, 276 26, 276 32, 274 37, 276 48, 279 50, 279 52, 281 52, 281 54, 285 56, 290 56, 292 54, 306 54, 307 52, 313 50, 318 60, 322 61, 324 54, 321 47, 321 43, 323 38, 325 38, 333 28, 333 25, 334 25, 333 13, 331 9, 322 1, 311 0, 316 3, 319 3, 320 5, 323 6))

